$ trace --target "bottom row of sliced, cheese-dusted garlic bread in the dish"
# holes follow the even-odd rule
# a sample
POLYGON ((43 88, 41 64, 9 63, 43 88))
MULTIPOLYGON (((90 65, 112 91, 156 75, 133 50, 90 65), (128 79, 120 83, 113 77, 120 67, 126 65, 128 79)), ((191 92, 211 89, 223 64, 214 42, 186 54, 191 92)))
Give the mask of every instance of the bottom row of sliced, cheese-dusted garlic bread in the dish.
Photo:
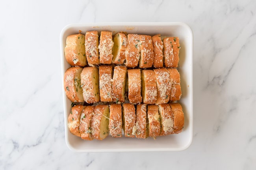
POLYGON ((72 134, 84 140, 102 140, 110 135, 122 137, 157 137, 180 133, 184 126, 184 113, 178 103, 147 104, 100 104, 76 105, 68 118, 72 134))

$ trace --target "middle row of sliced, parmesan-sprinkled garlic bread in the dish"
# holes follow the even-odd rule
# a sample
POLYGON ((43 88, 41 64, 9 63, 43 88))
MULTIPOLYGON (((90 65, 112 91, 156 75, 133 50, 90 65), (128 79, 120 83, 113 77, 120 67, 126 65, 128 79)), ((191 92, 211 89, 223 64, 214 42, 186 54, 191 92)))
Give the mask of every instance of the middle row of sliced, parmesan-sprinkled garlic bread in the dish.
POLYGON ((164 104, 180 100, 182 94, 176 68, 71 67, 65 72, 64 88, 70 101, 87 103, 125 102, 126 91, 133 104, 164 104))

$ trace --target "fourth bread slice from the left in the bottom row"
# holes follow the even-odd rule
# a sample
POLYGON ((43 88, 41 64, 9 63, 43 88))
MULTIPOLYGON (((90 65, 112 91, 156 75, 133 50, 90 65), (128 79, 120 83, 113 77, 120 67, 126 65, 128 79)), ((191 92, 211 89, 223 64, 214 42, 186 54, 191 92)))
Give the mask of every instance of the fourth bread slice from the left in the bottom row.
POLYGON ((112 137, 122 137, 122 106, 111 104, 109 110, 109 133, 112 137))

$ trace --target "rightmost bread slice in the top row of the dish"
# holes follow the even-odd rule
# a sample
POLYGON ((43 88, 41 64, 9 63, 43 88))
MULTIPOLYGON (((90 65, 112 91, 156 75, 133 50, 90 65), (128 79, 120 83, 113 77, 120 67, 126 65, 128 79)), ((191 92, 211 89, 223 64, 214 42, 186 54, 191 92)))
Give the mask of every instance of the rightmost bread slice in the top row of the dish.
POLYGON ((176 68, 179 62, 180 40, 178 37, 163 38, 165 67, 176 68))

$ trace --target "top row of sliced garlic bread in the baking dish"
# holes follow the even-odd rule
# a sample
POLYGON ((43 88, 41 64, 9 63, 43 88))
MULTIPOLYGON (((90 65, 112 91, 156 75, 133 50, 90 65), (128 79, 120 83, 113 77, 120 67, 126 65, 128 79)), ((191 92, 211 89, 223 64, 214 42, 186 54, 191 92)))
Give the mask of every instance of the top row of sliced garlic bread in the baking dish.
POLYGON ((101 31, 87 31, 85 35, 69 35, 66 40, 65 57, 71 66, 98 64, 125 64, 128 68, 176 68, 179 62, 178 37, 161 35, 137 35, 101 31), (126 60, 126 62, 124 62, 126 60))

